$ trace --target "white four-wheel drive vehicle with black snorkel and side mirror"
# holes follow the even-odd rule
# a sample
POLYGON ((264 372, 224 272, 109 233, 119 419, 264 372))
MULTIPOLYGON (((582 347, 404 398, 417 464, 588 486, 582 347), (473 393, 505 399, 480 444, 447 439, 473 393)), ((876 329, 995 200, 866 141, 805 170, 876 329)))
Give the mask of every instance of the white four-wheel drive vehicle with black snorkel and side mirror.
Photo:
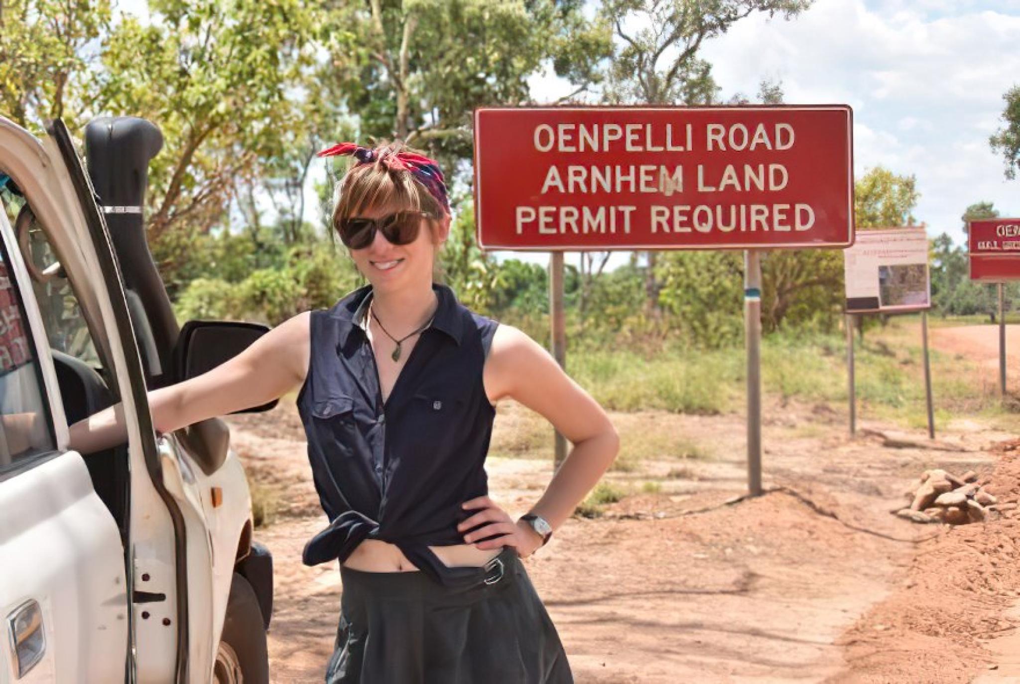
POLYGON ((272 563, 230 432, 158 435, 146 396, 266 328, 178 329, 142 225, 156 127, 91 123, 88 172, 48 133, 0 117, 0 684, 266 682, 272 563), (126 442, 68 448, 117 402, 126 442))

